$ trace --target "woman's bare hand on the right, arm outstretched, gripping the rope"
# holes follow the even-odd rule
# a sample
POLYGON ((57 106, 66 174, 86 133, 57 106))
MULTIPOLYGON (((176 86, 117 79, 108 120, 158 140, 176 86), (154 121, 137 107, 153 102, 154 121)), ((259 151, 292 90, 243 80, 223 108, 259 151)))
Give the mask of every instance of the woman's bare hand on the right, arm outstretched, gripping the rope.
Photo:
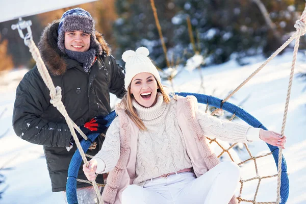
POLYGON ((259 132, 259 138, 264 142, 273 146, 282 147, 285 149, 286 137, 273 131, 265 131, 263 129, 259 132))

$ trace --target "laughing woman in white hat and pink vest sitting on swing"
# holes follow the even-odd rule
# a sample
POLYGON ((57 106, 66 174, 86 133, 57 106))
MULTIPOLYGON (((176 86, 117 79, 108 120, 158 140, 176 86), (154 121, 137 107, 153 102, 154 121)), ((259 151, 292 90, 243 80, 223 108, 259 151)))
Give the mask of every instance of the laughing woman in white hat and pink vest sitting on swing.
POLYGON ((286 137, 212 117, 197 110, 194 96, 170 98, 148 55, 145 47, 122 55, 127 93, 101 150, 83 166, 87 179, 110 171, 105 203, 228 203, 239 167, 219 164, 205 136, 230 142, 262 139, 282 148, 286 137))

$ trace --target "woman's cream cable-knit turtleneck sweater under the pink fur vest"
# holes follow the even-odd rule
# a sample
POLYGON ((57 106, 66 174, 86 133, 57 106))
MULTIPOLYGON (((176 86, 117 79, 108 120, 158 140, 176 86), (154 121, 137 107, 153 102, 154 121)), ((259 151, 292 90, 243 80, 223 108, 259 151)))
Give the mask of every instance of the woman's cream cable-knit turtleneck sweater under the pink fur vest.
MULTIPOLYGON (((139 131, 134 184, 192 167, 186 145, 176 117, 176 100, 166 104, 158 93, 155 106, 145 108, 133 101, 137 114, 147 127, 139 131)), ((224 141, 250 142, 259 140, 257 128, 222 121, 205 112, 196 113, 204 135, 224 141)), ((106 134, 101 150, 94 157, 98 161, 97 173, 111 171, 119 160, 119 120, 115 118, 106 134)))

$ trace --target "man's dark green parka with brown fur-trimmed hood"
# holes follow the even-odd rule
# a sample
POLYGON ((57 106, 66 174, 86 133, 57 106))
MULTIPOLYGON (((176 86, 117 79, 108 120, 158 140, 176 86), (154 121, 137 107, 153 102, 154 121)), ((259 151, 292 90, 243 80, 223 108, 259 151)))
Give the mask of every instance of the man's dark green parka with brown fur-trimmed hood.
MULTIPOLYGON (((109 93, 120 98, 123 96, 124 73, 99 33, 96 33, 96 38, 103 51, 97 56, 90 73, 86 73, 81 63, 68 58, 58 49, 58 24, 58 21, 53 22, 44 30, 39 50, 54 85, 62 88, 62 101, 68 115, 77 125, 82 125, 94 116, 110 113, 109 93)), ((77 147, 74 144, 73 148, 67 151, 71 133, 64 117, 50 104, 49 90, 36 66, 24 75, 17 87, 13 127, 20 138, 43 145, 52 191, 66 190, 68 166, 77 147)), ((88 150, 87 153, 95 155, 103 140, 100 135, 97 148, 88 150)), ((82 165, 78 177, 86 180, 82 165)), ((96 181, 103 184, 103 176, 99 175, 96 181)), ((90 184, 78 182, 78 188, 85 186, 90 184)))

